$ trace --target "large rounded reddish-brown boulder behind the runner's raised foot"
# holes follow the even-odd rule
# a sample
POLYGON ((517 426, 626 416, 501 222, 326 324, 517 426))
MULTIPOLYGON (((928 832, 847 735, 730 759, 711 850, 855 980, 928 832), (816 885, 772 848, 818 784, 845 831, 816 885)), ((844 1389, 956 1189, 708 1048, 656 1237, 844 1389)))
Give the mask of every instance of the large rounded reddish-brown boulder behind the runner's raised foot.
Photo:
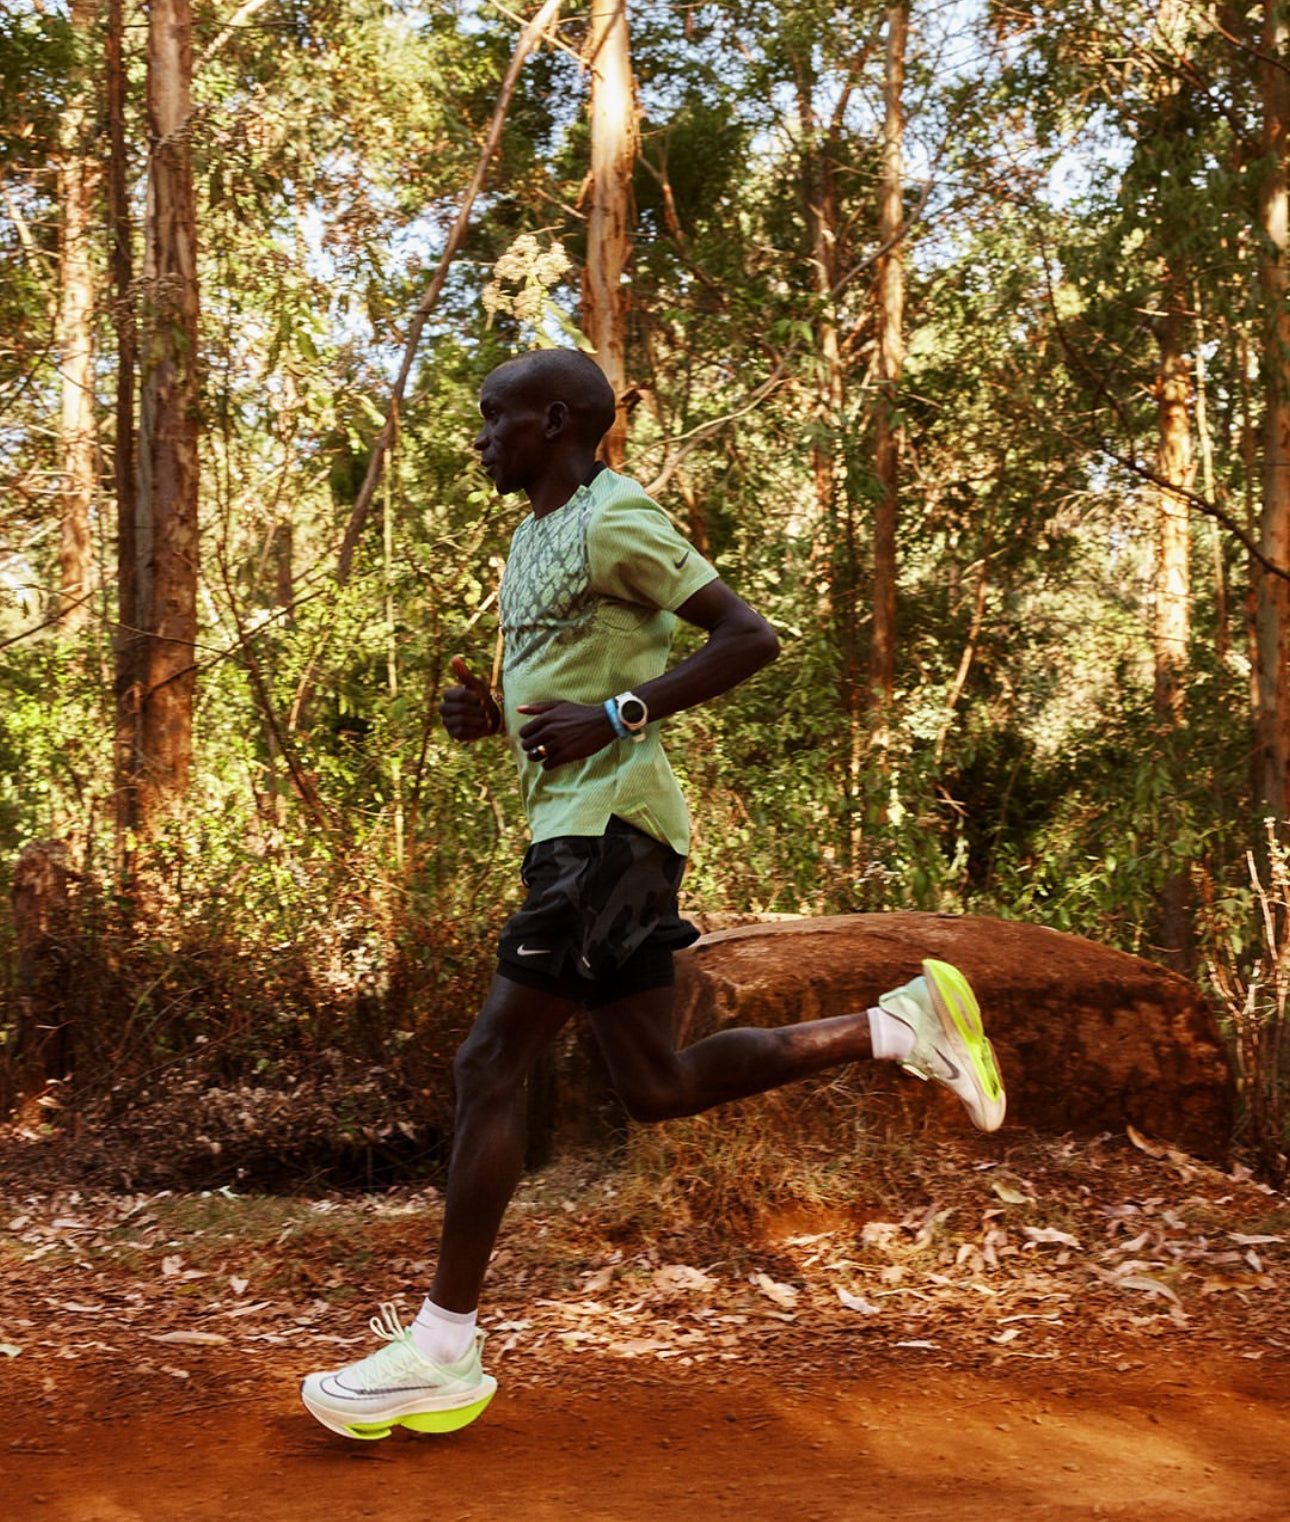
MULTIPOLYGON (((981 1001, 1010 1126, 1138 1131, 1222 1158, 1232 1079, 1214 1012, 1187 979, 1045 925, 974 915, 838 915, 744 925, 677 957, 677 1041, 866 1009, 923 957, 961 968, 981 1001)), ((875 1062, 893 1103, 968 1125, 936 1085, 875 1062)))

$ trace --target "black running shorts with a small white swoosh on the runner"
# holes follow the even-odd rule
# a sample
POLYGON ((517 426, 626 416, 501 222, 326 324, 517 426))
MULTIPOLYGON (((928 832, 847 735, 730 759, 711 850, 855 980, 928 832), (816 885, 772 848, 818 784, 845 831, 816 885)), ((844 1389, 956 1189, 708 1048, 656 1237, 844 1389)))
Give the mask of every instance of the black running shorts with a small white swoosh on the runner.
POLYGON ((672 953, 698 941, 677 912, 685 864, 618 817, 602 836, 539 840, 525 854, 528 898, 502 930, 497 971, 589 1009, 669 988, 672 953))

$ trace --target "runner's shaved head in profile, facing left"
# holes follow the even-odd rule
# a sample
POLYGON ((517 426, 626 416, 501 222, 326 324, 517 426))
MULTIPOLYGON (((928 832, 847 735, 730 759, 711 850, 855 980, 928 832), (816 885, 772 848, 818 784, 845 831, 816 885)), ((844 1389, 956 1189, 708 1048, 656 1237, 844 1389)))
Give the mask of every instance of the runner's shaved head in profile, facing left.
POLYGON ((508 359, 479 393, 484 419, 475 447, 499 492, 528 492, 548 478, 586 473, 613 423, 613 388, 574 349, 539 349, 508 359))

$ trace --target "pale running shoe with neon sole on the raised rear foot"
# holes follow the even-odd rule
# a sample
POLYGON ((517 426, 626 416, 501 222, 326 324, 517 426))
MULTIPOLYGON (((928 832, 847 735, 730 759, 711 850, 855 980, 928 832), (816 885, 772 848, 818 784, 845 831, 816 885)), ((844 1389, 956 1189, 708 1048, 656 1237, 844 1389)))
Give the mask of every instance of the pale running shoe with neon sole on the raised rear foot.
POLYGON ((914 1049, 901 1064, 905 1071, 957 1094, 978 1131, 998 1131, 1007 1110, 1004 1081, 977 995, 958 968, 926 960, 922 977, 878 1003, 914 1032, 914 1049))

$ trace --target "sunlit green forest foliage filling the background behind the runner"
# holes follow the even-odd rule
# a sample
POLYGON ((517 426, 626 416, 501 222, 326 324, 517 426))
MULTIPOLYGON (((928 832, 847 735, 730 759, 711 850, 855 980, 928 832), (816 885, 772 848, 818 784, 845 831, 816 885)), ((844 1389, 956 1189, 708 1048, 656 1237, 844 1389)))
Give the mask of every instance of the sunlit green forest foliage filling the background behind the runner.
MULTIPOLYGON (((344 1047, 397 1058, 438 1125, 523 848, 505 749, 455 747, 435 718, 452 656, 493 665, 522 511, 475 467, 476 396, 517 349, 572 341, 586 79, 557 49, 525 68, 342 584, 336 546, 514 26, 377 0, 271 0, 228 33, 224 20, 202 11, 196 37, 204 540, 187 817, 151 852, 155 924, 132 924, 108 826, 105 484, 94 627, 0 650, 0 860, 58 837, 84 875, 68 965, 93 991, 76 1026, 85 1093, 123 1102, 114 1085, 137 1094, 189 1061, 221 1084, 286 1082, 344 1047), (539 268, 555 248, 574 268, 539 268)), ((1165 47, 1145 6, 914 9, 898 673, 876 746, 864 694, 847 708, 847 667, 867 661, 873 592, 884 12, 642 3, 631 24, 628 470, 783 642, 771 671, 671 726, 695 817, 691 907, 977 910, 1155 954, 1162 889, 1182 874, 1222 906, 1202 935, 1240 939, 1252 734, 1234 610, 1249 568, 1226 531, 1194 536, 1187 718, 1168 732, 1152 703, 1141 475, 1168 274, 1196 394, 1205 361, 1212 481, 1199 484, 1238 524, 1258 505, 1263 169, 1240 50, 1208 26, 1165 47), (825 245, 837 280, 821 291, 825 245)), ((584 37, 575 8, 560 38, 584 37)), ((0 221, 8 639, 43 622, 58 578, 49 164, 75 64, 55 12, 0 18, 0 174, 23 219, 0 221)), ((135 195, 140 67, 135 52, 135 195)), ((103 399, 110 317, 103 300, 103 399)), ((100 425, 106 482, 106 405, 100 425)), ((1196 408, 1193 426, 1199 444, 1196 408)), ((17 1059, 8 1079, 23 1081, 17 1059)))

